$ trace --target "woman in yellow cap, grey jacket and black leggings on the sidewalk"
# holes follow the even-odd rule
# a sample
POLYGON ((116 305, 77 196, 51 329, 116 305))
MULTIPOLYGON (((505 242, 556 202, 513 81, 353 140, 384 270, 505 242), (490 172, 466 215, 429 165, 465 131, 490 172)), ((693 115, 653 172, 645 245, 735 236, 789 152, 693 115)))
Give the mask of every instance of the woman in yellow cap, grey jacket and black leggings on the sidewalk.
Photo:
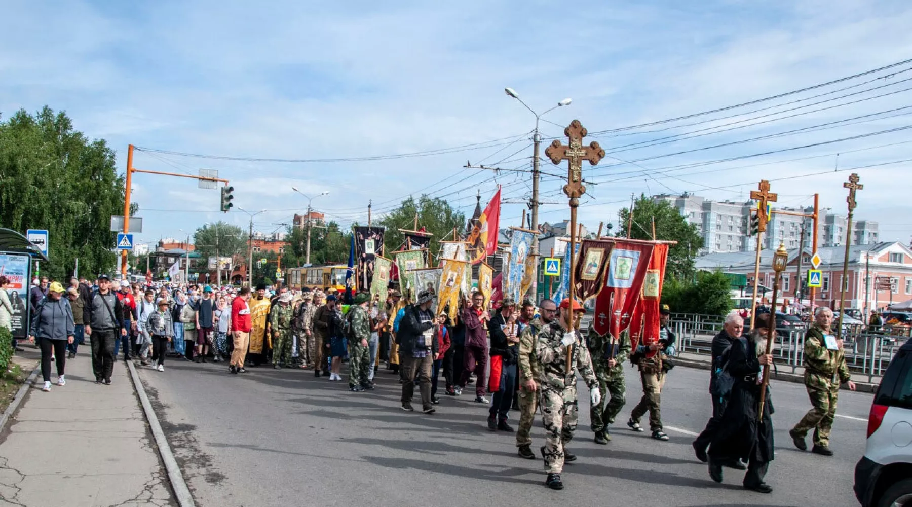
POLYGON ((45 387, 41 390, 51 390, 51 356, 57 357, 57 386, 65 386, 64 367, 67 364, 67 343, 73 343, 75 325, 73 324, 73 309, 63 295, 63 285, 59 282, 52 283, 47 288, 47 297, 41 300, 32 316, 31 332, 28 341, 35 343, 38 338, 38 347, 41 347, 41 376, 45 379, 45 387))

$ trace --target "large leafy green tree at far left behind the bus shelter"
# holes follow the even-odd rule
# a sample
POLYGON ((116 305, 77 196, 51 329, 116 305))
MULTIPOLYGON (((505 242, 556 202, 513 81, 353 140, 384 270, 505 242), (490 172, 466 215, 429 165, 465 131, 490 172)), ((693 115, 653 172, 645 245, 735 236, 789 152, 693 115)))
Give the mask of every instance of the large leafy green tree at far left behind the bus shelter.
POLYGON ((49 264, 64 279, 111 271, 116 263, 111 215, 123 214, 122 176, 104 140, 88 140, 63 112, 20 109, 0 122, 0 227, 47 229, 49 264))

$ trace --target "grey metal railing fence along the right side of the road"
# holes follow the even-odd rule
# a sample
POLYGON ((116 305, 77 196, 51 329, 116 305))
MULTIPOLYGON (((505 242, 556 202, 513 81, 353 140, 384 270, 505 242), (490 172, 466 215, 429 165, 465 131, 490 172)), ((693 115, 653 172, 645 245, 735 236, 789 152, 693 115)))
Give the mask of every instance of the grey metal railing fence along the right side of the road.
MULTIPOLYGON (((678 336, 679 353, 709 356, 712 337, 721 331, 724 320, 721 316, 672 315, 669 327, 678 336)), ((906 330, 901 334, 891 331, 891 328, 869 331, 865 326, 845 326, 843 347, 849 369, 853 373, 867 376, 869 381, 882 376, 896 350, 909 339, 906 330)), ((777 359, 777 367, 791 368, 792 373, 803 367, 806 332, 806 325, 777 329, 772 352, 777 359)))

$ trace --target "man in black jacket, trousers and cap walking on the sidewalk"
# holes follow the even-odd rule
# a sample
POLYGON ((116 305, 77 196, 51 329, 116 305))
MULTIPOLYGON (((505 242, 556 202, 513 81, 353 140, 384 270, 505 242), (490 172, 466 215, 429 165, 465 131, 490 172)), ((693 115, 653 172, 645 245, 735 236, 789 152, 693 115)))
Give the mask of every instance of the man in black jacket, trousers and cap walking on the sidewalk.
POLYGON ((108 275, 98 276, 98 290, 89 296, 82 309, 86 335, 91 337, 95 383, 104 382, 106 385, 110 385, 114 372, 114 343, 119 336, 127 336, 127 329, 123 326, 123 306, 110 288, 108 275))

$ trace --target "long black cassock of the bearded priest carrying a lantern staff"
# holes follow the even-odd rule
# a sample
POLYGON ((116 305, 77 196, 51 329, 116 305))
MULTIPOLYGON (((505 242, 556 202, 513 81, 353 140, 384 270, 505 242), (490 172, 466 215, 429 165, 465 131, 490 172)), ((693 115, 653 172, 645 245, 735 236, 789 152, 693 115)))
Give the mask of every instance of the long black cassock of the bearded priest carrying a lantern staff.
POLYGON ((710 444, 710 460, 724 462, 741 459, 750 462, 745 483, 762 481, 766 464, 773 460, 772 453, 772 398, 766 390, 763 404, 763 419, 757 417, 760 409, 760 388, 757 378, 761 377, 761 364, 757 358, 755 343, 741 337, 731 345, 728 370, 735 378, 728 405, 722 414, 719 429, 710 444), (760 471, 759 477, 751 471, 760 471))

